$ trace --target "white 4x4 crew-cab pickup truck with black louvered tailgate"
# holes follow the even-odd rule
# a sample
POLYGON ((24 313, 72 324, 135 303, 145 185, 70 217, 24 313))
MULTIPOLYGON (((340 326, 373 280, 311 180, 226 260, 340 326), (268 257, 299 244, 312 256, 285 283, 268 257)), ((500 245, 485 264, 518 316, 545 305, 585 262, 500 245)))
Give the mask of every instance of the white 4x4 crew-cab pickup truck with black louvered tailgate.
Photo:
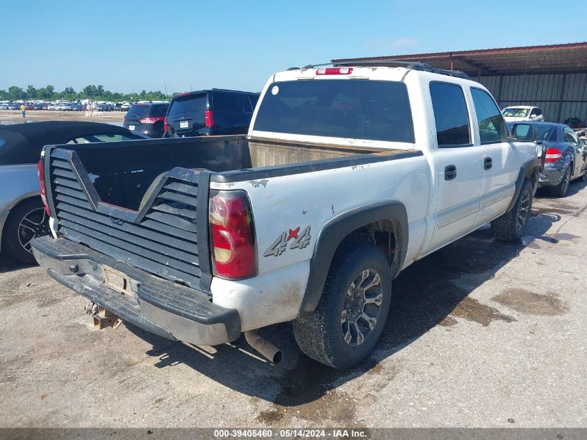
POLYGON ((392 279, 491 222, 517 240, 540 164, 483 85, 416 64, 271 76, 247 136, 49 145, 58 282, 170 339, 247 341, 293 321, 308 356, 348 368, 374 348, 392 279))

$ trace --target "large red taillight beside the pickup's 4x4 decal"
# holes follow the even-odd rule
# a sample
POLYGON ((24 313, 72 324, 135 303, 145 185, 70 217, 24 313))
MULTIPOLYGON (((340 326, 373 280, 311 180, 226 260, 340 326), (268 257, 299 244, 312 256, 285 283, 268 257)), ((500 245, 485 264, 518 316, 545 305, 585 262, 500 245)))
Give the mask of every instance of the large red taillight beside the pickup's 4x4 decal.
POLYGON ((245 191, 210 191, 210 245, 214 275, 256 274, 253 213, 245 191))

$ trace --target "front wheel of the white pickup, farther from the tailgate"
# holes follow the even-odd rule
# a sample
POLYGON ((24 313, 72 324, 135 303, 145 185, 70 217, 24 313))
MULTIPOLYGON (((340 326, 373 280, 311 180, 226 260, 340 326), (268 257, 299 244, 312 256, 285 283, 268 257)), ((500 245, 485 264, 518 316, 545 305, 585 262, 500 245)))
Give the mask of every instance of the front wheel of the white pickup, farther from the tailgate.
POLYGON ((491 230, 497 240, 518 241, 524 235, 532 209, 534 188, 530 179, 525 179, 512 209, 491 222, 491 230))

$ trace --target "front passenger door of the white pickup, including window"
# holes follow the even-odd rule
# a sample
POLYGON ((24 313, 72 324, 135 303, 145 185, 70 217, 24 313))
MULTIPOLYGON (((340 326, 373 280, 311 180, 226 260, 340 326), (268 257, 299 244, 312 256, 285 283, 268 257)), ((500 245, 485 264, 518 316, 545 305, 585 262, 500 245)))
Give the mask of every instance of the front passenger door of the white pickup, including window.
POLYGON ((513 194, 520 172, 515 142, 508 141, 508 128, 493 97, 480 88, 470 88, 475 120, 475 144, 482 156, 481 197, 475 225, 502 215, 513 194))

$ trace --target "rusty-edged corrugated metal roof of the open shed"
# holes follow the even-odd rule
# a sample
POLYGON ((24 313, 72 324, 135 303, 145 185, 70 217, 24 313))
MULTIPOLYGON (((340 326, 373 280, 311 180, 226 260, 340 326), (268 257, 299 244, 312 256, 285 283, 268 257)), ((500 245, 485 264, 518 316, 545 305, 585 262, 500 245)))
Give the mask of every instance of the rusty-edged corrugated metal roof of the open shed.
POLYGON ((470 76, 587 72, 587 42, 546 46, 504 47, 470 51, 433 52, 332 60, 337 65, 361 61, 422 61, 438 69, 461 70, 470 76))

